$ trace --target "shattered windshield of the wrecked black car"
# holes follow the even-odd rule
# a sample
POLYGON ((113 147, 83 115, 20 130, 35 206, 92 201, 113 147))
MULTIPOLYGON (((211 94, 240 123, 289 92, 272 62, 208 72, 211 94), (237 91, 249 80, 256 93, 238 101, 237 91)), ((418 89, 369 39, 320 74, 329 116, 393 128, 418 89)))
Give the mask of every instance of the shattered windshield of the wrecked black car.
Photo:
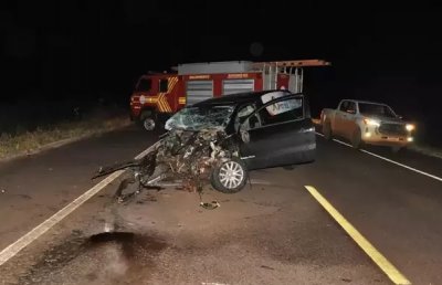
POLYGON ((233 109, 233 106, 220 105, 187 107, 167 120, 166 129, 201 130, 204 128, 225 128, 233 109))

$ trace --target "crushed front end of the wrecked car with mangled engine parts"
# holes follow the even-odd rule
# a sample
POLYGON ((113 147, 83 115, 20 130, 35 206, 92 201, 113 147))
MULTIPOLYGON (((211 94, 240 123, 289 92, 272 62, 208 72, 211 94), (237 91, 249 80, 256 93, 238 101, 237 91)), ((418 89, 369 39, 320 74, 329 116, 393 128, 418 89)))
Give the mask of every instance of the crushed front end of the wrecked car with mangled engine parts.
POLYGON ((201 130, 172 129, 141 159, 130 160, 110 167, 101 168, 94 178, 127 169, 124 179, 115 192, 123 202, 139 193, 143 189, 160 190, 166 186, 201 193, 211 184, 215 190, 227 193, 240 191, 246 182, 245 166, 239 158, 239 149, 232 135, 221 128, 201 130), (233 163, 234 162, 234 163, 233 163), (240 165, 242 176, 233 177, 236 183, 220 181, 234 171, 231 165, 240 165), (227 168, 223 172, 223 168, 227 168), (221 177, 220 177, 221 172, 221 177), (224 183, 223 183, 224 182, 224 183), (129 184, 138 183, 135 191, 126 193, 129 184))

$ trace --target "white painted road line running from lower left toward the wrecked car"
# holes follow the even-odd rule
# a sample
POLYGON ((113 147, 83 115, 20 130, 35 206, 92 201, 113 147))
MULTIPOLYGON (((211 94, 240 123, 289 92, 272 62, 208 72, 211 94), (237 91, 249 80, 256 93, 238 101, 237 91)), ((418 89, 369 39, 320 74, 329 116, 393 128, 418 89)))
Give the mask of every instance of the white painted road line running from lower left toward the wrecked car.
MULTIPOLYGON (((159 140, 160 141, 160 140, 159 140)), ((135 157, 135 159, 140 159, 144 156, 146 156, 152 148, 155 148, 159 141, 155 142, 150 147, 148 147, 146 150, 144 150, 141 154, 135 157)), ((82 205, 84 202, 90 200, 92 197, 94 197, 96 193, 98 193, 102 189, 104 189, 106 186, 108 186, 112 181, 117 179, 124 171, 118 170, 105 179, 103 179, 101 182, 98 182, 96 186, 84 192, 82 196, 76 198, 74 201, 72 201, 70 204, 61 209, 59 212, 54 213, 51 218, 35 226, 33 230, 21 236, 19 240, 17 240, 14 243, 10 244, 7 246, 4 250, 0 252, 0 266, 3 265, 7 261, 15 256, 21 250, 23 250, 25 246, 31 244, 33 241, 39 239, 42 234, 48 232, 52 226, 61 222, 64 218, 66 218, 70 213, 75 211, 80 205, 82 205)))

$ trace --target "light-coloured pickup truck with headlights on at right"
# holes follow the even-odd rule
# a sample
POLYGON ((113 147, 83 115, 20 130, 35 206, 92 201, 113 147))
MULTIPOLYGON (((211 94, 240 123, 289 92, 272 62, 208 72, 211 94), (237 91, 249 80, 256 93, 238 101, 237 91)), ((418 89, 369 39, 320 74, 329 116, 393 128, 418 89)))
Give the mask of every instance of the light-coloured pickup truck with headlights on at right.
POLYGON ((320 113, 324 137, 340 136, 355 148, 364 142, 390 146, 393 151, 413 141, 414 125, 402 118, 386 104, 343 99, 337 109, 325 108, 320 113))

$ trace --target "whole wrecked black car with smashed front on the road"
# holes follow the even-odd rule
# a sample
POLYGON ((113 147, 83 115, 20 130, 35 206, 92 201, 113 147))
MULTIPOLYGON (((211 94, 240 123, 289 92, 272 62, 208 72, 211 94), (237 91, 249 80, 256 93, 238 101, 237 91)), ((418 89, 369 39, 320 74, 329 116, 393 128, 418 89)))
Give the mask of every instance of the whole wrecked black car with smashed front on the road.
POLYGON ((166 122, 167 133, 140 160, 101 169, 104 176, 130 168, 129 183, 159 188, 177 182, 189 191, 204 186, 223 193, 241 191, 249 171, 315 159, 316 140, 307 97, 288 91, 252 92, 210 98, 166 122))

